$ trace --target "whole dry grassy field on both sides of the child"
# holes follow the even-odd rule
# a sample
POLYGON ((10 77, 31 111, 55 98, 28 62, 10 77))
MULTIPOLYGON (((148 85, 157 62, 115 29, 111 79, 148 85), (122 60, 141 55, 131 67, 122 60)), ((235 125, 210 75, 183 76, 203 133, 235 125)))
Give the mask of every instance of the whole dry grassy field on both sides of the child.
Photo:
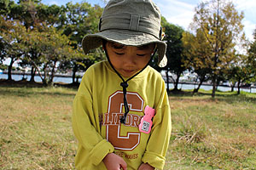
MULTIPOLYGON (((0 87, 0 169, 74 169, 72 88, 0 87)), ((165 169, 256 169, 256 94, 171 95, 165 169)))

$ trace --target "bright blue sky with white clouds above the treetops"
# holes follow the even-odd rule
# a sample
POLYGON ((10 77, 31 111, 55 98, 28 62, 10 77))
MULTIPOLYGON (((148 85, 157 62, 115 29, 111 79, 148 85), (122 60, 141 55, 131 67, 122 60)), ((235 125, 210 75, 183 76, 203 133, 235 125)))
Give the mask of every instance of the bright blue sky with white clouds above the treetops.
MULTIPOLYGON (((42 0, 44 4, 65 5, 68 2, 81 3, 82 0, 42 0)), ((202 0, 154 0, 160 8, 161 14, 169 23, 182 26, 185 31, 193 21, 195 7, 202 0)), ((255 0, 231 0, 236 5, 239 13, 243 11, 245 17, 242 20, 247 38, 253 41, 253 31, 256 29, 256 3, 255 0)), ((105 6, 104 0, 85 0, 90 4, 105 6)))

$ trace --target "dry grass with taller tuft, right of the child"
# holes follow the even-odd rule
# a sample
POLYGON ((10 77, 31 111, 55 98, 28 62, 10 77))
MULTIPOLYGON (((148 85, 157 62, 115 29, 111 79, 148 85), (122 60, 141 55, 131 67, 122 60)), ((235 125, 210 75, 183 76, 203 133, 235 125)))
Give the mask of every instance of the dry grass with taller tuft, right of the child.
POLYGON ((256 95, 171 96, 166 169, 255 169, 256 95))

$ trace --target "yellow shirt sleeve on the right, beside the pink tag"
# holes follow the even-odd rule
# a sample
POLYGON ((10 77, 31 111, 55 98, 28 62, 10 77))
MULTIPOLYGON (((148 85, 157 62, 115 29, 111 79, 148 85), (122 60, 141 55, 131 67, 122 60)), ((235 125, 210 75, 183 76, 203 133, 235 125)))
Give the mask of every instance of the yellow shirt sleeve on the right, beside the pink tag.
POLYGON ((144 163, 158 169, 164 168, 166 151, 172 131, 171 108, 165 85, 162 86, 161 96, 159 105, 156 107, 151 135, 142 160, 144 163))

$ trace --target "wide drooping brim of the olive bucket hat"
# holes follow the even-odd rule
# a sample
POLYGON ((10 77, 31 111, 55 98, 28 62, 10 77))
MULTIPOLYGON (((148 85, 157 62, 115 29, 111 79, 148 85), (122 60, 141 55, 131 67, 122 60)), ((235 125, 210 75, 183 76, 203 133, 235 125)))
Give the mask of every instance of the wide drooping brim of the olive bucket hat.
POLYGON ((84 54, 88 54, 91 49, 100 47, 102 45, 102 39, 127 46, 143 46, 149 43, 156 43, 159 55, 158 65, 160 67, 166 66, 166 42, 160 41, 151 34, 129 30, 107 30, 86 35, 82 41, 84 54))

